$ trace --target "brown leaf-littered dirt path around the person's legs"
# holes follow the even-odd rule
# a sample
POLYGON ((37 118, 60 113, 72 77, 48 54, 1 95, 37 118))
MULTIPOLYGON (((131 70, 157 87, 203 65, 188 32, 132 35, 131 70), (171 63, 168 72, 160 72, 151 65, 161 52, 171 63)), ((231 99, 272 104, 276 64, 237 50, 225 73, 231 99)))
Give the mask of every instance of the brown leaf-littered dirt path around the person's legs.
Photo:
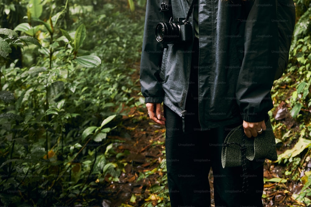
MULTIPOLYGON (((134 74, 132 79, 139 79, 139 74, 134 74)), ((140 88, 139 82, 137 82, 137 87, 140 88)), ((135 95, 138 92, 134 91, 133 96, 138 98, 139 96, 135 95)), ((147 110, 144 104, 129 108, 128 111, 128 115, 123 116, 122 127, 124 130, 122 130, 122 134, 118 137, 112 137, 124 141, 122 145, 118 145, 117 152, 124 152, 124 150, 130 152, 125 157, 125 161, 128 163, 125 166, 126 172, 121 174, 118 182, 113 182, 109 180, 109 175, 106 176, 106 181, 109 182, 109 185, 104 190, 110 193, 103 201, 103 206, 105 206, 105 203, 111 207, 125 206, 125 204, 127 206, 144 206, 146 203, 149 203, 148 206, 151 206, 150 203, 152 203, 152 206, 156 206, 157 200, 161 200, 161 198, 151 193, 149 189, 155 184, 161 184, 161 178, 165 172, 156 171, 148 178, 143 179, 139 179, 139 177, 141 173, 156 169, 162 160, 165 159, 165 127, 153 123, 147 117, 147 110)), ((284 149, 278 150, 281 150, 278 151, 278 154, 284 151, 284 149)), ((311 166, 311 161, 307 165, 311 166)), ((282 173, 285 169, 283 168, 277 163, 266 160, 264 164, 264 180, 278 179, 274 182, 264 183, 263 206, 306 206, 295 200, 293 196, 293 194, 298 194, 301 191, 303 185, 289 179, 286 181, 279 179, 284 177, 282 173)), ((212 170, 206 173, 211 186, 211 206, 215 206, 212 170)))

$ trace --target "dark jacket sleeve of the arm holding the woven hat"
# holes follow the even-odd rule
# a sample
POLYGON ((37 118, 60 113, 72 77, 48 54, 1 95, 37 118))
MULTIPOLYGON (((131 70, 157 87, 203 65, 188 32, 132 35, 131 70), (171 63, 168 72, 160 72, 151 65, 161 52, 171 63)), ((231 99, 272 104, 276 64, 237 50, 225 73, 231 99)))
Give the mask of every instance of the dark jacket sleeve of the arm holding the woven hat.
POLYGON ((244 58, 236 87, 236 100, 245 121, 262 121, 273 108, 270 91, 278 51, 276 1, 255 0, 245 20, 244 58))

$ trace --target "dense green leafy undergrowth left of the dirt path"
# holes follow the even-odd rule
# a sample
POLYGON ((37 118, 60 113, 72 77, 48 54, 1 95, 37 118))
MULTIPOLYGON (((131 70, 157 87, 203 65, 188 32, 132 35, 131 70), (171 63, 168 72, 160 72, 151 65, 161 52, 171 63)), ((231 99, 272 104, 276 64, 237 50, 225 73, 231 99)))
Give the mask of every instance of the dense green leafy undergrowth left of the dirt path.
POLYGON ((2 60, 21 47, 25 65, 0 69, 0 203, 98 204, 104 177, 124 170, 109 159, 117 142, 109 134, 123 103, 133 101, 129 75, 137 72, 143 24, 115 21, 130 19, 105 6, 71 15, 67 30, 58 20, 72 4, 46 16, 45 7, 55 4, 44 2, 25 4, 31 24, 0 29, 2 60))

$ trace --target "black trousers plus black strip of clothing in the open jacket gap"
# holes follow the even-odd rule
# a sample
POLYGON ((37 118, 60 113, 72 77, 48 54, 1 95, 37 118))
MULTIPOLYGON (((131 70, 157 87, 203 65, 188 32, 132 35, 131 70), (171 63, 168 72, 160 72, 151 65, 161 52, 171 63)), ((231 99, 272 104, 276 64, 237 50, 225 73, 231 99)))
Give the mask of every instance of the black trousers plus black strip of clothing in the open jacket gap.
POLYGON ((223 169, 221 165, 222 143, 230 130, 241 123, 201 131, 197 99, 198 44, 193 50, 186 99, 185 132, 182 129, 182 119, 164 105, 165 151, 171 206, 211 206, 208 173, 212 168, 216 207, 262 207, 263 165, 255 170, 248 169, 247 193, 242 193, 242 168, 223 169))

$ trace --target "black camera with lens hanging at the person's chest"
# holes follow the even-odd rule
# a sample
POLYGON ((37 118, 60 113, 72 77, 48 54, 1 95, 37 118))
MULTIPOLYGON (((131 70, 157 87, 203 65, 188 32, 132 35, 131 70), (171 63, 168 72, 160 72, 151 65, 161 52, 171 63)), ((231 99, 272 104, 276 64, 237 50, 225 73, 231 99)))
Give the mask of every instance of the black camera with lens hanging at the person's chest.
POLYGON ((187 42, 192 39, 192 27, 185 18, 177 21, 160 22, 156 25, 156 41, 162 44, 187 42))

